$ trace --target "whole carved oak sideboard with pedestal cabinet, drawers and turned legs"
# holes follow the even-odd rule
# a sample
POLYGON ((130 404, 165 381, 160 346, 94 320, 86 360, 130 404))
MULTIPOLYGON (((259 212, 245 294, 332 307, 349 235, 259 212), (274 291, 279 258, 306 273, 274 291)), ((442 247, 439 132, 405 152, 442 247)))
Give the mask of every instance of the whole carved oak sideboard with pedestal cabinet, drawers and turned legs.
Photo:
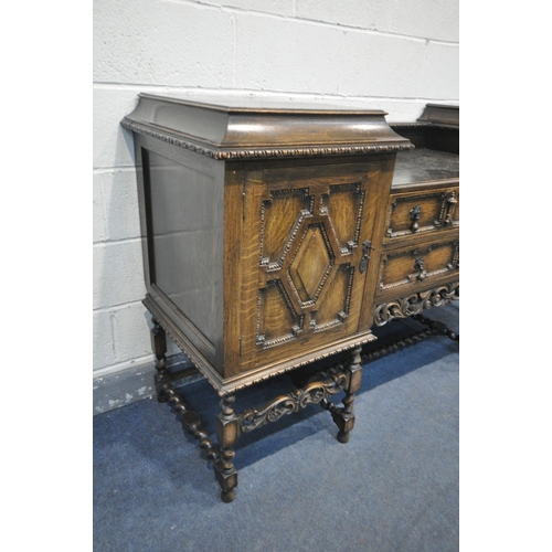
POLYGON ((424 161, 385 115, 140 94, 121 121, 135 142, 158 399, 214 461, 224 501, 240 434, 320 403, 347 443, 372 327, 457 297, 458 179, 411 181, 424 161), (220 395, 217 444, 171 385, 166 335, 220 395), (289 394, 234 410, 241 389, 343 351, 289 394), (329 401, 342 392, 342 406, 329 401))

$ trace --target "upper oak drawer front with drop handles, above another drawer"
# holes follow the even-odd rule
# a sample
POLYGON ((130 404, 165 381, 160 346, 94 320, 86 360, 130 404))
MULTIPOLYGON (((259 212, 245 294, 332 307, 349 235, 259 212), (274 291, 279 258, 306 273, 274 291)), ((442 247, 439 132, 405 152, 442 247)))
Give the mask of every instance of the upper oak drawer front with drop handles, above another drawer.
POLYGON ((394 193, 389 205, 385 242, 459 225, 459 188, 394 193))

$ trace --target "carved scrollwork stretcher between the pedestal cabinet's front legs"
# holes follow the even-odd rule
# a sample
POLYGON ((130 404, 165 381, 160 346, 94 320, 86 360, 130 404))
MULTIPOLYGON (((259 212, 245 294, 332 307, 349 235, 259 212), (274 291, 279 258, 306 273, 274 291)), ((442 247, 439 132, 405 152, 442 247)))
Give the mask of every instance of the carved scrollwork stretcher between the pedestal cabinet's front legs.
POLYGON ((305 388, 298 389, 288 395, 280 395, 265 404, 262 408, 246 408, 238 416, 240 431, 253 432, 270 422, 276 422, 286 414, 291 414, 305 408, 309 404, 320 403, 330 395, 343 391, 347 384, 347 375, 342 367, 333 367, 317 374, 325 378, 322 381, 314 381, 305 388))

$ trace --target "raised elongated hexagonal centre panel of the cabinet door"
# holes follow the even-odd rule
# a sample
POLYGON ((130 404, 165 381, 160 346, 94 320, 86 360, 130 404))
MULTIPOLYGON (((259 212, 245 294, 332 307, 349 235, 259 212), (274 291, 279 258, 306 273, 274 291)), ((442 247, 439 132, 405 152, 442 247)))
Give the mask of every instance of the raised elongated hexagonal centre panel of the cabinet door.
POLYGON ((289 265, 289 276, 300 300, 312 304, 333 268, 335 255, 322 223, 311 224, 289 265))

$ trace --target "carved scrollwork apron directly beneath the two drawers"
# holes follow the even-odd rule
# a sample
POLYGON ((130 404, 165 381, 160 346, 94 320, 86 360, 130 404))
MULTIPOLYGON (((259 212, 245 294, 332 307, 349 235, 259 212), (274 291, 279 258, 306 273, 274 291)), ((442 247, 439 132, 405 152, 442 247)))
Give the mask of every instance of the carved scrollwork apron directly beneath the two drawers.
POLYGON ((418 315, 424 309, 440 307, 459 298, 458 282, 412 294, 395 301, 384 302, 375 308, 374 323, 384 326, 393 318, 406 318, 418 315))

